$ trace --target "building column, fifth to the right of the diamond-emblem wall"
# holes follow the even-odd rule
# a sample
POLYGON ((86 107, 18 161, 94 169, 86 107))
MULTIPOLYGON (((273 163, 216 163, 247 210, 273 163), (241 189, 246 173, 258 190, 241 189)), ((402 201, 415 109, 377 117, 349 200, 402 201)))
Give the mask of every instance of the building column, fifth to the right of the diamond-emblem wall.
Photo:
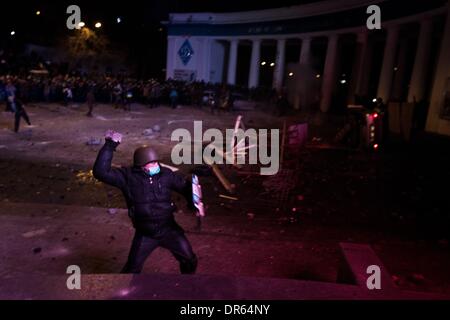
POLYGON ((331 106, 331 98, 336 80, 338 35, 331 35, 328 39, 327 56, 325 58, 325 68, 322 82, 322 99, 320 110, 327 112, 331 106))

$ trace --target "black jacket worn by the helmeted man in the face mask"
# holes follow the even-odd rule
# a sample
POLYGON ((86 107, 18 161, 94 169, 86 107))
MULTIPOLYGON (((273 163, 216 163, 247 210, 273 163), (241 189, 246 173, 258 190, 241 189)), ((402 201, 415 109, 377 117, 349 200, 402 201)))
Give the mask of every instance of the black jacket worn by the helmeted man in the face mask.
POLYGON ((112 168, 111 160, 117 145, 106 140, 94 164, 94 177, 122 191, 136 230, 151 236, 162 235, 170 228, 182 230, 173 216, 177 208, 172 202, 171 191, 184 195, 188 207, 193 209, 191 183, 164 167, 152 177, 138 167, 112 168))

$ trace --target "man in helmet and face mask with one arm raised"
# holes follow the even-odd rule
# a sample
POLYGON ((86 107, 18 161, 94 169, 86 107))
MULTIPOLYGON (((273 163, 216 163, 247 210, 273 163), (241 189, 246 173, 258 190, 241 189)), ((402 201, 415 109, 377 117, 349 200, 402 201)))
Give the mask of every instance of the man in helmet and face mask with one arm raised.
POLYGON ((189 208, 194 209, 191 183, 162 167, 155 150, 147 146, 136 149, 133 166, 112 168, 113 153, 121 141, 121 134, 107 132, 93 173, 96 179, 122 191, 136 230, 122 273, 140 273, 145 260, 157 247, 170 250, 180 263, 181 273, 195 273, 197 257, 184 230, 175 221, 176 207, 171 199, 171 191, 177 191, 185 196, 189 208))

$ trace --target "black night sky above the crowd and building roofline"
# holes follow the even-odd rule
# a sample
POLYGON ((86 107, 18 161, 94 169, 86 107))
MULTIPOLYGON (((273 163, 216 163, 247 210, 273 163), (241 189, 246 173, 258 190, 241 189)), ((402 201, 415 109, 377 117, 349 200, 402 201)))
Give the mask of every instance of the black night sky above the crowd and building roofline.
POLYGON ((159 76, 165 66, 166 30, 161 21, 171 12, 232 12, 266 9, 316 1, 278 0, 165 0, 165 1, 5 1, 0 10, 0 46, 26 43, 53 46, 71 31, 66 28, 67 6, 77 4, 88 27, 102 23, 110 42, 137 62, 145 75, 159 76), (36 12, 40 11, 40 15, 36 12), (121 18, 121 23, 116 22, 121 18), (15 31, 14 37, 11 31, 15 31))

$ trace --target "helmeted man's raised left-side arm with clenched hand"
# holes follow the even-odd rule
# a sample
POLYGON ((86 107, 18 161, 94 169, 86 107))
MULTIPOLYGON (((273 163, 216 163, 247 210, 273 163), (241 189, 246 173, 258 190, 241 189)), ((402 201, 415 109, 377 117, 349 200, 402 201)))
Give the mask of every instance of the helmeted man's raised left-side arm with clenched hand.
POLYGON ((108 132, 105 138, 105 144, 100 149, 95 160, 93 174, 94 177, 109 185, 123 188, 126 185, 125 172, 120 168, 112 168, 111 161, 113 153, 120 144, 120 134, 108 132))

